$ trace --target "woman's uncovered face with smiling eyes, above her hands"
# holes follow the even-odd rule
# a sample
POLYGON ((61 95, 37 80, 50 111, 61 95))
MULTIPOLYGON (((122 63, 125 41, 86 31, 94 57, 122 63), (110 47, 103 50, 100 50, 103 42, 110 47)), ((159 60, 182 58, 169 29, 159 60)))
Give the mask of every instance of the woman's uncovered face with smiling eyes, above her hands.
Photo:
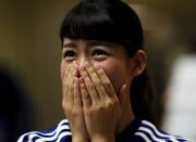
POLYGON ((115 92, 122 83, 131 86, 133 80, 132 60, 122 46, 96 40, 72 40, 64 38, 61 61, 61 78, 69 65, 76 61, 79 66, 88 62, 105 69, 115 92))

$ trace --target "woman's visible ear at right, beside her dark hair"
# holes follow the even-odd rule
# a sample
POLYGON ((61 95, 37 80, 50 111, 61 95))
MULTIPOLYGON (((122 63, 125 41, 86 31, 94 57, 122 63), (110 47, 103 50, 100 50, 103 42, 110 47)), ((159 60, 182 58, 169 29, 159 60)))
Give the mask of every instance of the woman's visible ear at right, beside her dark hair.
POLYGON ((147 55, 144 50, 138 50, 135 55, 132 57, 133 70, 132 74, 134 76, 139 76, 146 68, 146 60, 147 55))

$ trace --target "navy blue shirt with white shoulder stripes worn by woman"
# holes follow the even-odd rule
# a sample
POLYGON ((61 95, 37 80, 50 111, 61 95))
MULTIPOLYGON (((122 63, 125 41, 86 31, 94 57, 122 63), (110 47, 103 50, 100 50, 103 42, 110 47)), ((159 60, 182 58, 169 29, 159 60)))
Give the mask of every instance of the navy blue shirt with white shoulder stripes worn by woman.
MULTIPOLYGON (((118 137, 117 142, 191 142, 182 137, 158 130, 147 120, 135 119, 118 137)), ((46 131, 32 131, 21 135, 17 142, 71 142, 72 133, 68 119, 46 131)))

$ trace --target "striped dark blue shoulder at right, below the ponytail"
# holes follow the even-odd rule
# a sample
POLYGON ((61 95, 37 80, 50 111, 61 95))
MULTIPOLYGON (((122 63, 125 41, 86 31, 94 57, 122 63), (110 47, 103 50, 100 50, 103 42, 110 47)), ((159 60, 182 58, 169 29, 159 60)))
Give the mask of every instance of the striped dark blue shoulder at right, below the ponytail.
POLYGON ((171 135, 167 132, 163 132, 147 120, 140 121, 140 125, 137 131, 135 131, 134 137, 136 139, 143 140, 144 142, 191 142, 189 140, 182 137, 171 135))

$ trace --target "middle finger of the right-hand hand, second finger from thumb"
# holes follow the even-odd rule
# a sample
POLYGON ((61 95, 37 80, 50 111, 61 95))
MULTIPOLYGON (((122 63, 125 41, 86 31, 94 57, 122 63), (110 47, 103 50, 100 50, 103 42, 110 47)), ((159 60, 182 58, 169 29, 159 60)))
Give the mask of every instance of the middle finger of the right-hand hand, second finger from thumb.
POLYGON ((101 100, 107 99, 108 94, 107 94, 105 87, 103 87, 100 78, 98 77, 95 68, 93 66, 90 66, 89 64, 85 64, 85 69, 88 73, 88 75, 98 92, 99 98, 101 100))

